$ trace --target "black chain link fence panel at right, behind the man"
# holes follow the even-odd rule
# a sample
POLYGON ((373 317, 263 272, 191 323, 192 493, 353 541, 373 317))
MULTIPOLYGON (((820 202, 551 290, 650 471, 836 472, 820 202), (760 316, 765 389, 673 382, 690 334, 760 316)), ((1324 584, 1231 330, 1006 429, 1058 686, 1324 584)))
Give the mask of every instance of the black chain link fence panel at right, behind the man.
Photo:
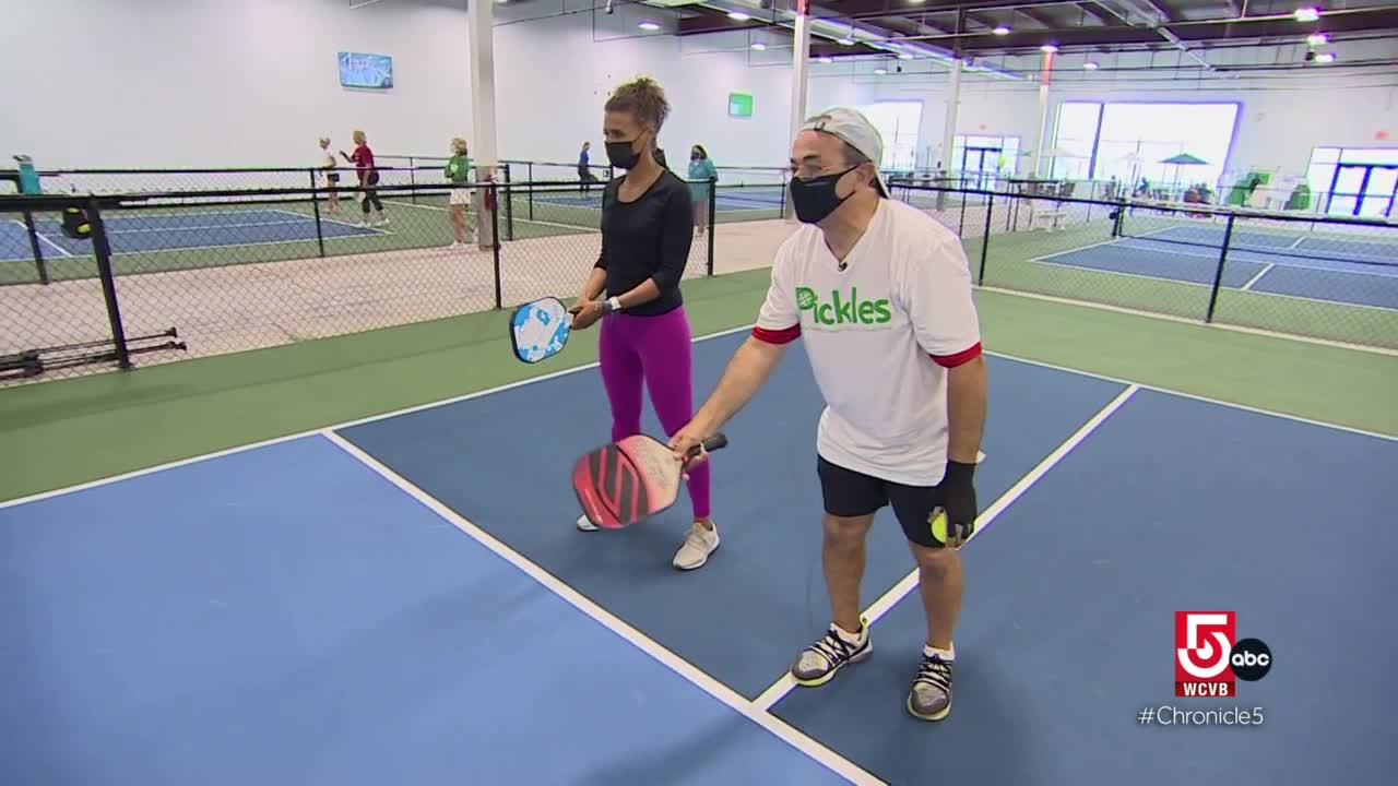
POLYGON ((892 187, 962 236, 984 287, 1398 350, 1395 221, 892 187))

